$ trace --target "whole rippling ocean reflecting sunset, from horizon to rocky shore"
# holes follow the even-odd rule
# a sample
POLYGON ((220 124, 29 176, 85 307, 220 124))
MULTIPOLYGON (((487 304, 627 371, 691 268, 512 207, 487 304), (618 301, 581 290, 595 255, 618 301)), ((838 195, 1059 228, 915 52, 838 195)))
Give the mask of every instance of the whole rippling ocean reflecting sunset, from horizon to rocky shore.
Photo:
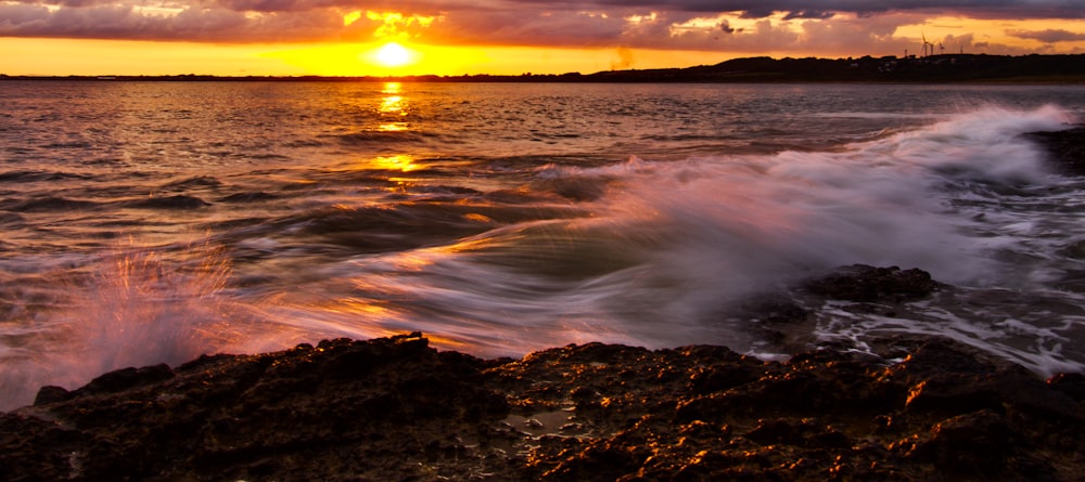
MULTIPOLYGON (((0 408, 43 385, 423 331, 786 356, 742 317, 834 266, 950 292, 805 307, 1085 368, 1085 178, 1021 136, 1083 86, 3 81, 0 408)), ((843 348, 841 348, 843 347, 843 348)))

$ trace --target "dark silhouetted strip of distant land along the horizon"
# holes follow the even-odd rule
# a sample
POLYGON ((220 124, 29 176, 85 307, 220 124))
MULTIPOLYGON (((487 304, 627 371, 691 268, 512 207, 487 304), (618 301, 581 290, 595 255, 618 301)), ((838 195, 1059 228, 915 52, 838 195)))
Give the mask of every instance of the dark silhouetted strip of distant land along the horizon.
POLYGON ((525 73, 463 76, 8 76, 2 80, 122 80, 122 81, 278 81, 278 82, 946 82, 946 83, 1085 83, 1085 54, 987 55, 940 54, 859 58, 735 58, 715 65, 686 68, 608 70, 595 74, 525 73))

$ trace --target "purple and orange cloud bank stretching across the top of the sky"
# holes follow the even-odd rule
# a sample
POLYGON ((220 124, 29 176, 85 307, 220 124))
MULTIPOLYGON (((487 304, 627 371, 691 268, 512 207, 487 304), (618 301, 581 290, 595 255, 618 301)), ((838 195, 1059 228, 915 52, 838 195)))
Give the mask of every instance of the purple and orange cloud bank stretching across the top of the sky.
MULTIPOLYGON (((1071 3, 1076 0, 0 0, 0 36, 245 43, 372 41, 383 34, 445 44, 833 56, 917 51, 918 40, 903 37, 901 27, 931 16, 1082 18, 1085 9, 1071 3), (398 13, 403 22, 367 12, 398 13)), ((1006 34, 1045 43, 1083 36, 1006 34)), ((984 41, 967 47, 1018 51, 984 41)), ((624 62, 620 54, 617 63, 624 62)))

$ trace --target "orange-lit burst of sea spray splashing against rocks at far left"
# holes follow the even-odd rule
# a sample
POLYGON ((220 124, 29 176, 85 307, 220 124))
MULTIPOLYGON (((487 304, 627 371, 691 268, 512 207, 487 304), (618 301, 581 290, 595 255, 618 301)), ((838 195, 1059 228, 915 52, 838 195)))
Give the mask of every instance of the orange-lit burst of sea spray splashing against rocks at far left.
POLYGON ((65 289, 51 322, 8 347, 0 407, 28 403, 43 385, 76 388, 108 370, 178 364, 241 344, 253 316, 228 292, 229 261, 206 245, 186 251, 182 261, 123 246, 58 271, 53 283, 65 289))

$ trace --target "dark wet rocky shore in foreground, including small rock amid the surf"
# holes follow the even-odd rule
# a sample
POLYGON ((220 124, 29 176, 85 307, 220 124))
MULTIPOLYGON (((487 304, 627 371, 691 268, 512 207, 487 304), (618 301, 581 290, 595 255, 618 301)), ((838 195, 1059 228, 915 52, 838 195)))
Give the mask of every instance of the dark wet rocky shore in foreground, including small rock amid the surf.
MULTIPOLYGON (((923 297, 919 270, 805 287, 923 297)), ((802 309, 764 303, 767 326, 802 309), (796 311, 797 310, 797 311, 796 311), (775 314, 775 315, 774 315, 775 314), (775 316, 775 317, 774 317, 775 316)), ((1032 480, 1085 473, 1085 377, 939 338, 764 362, 585 344, 521 360, 421 334, 127 368, 0 415, 0 480, 1032 480)))

